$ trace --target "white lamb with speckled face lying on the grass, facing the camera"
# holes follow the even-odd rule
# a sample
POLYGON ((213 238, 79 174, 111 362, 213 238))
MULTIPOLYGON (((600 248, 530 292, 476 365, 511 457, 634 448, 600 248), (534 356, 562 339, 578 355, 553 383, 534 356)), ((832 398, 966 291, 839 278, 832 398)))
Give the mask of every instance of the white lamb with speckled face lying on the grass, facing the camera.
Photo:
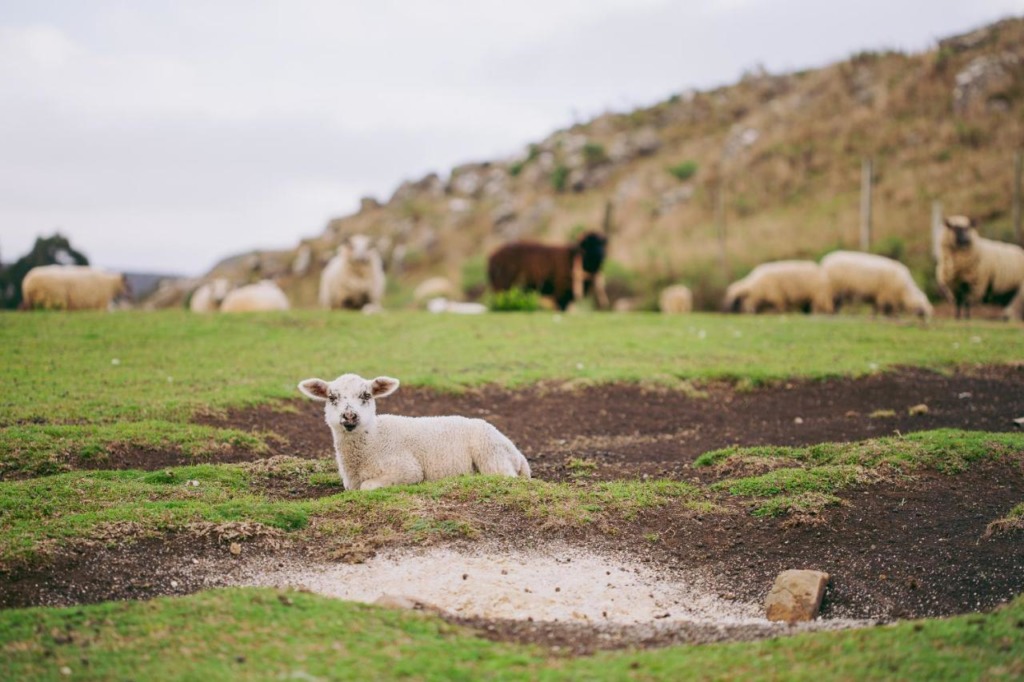
POLYGON ((473 471, 529 478, 526 458, 482 419, 377 415, 375 400, 397 388, 397 379, 355 374, 330 383, 299 383, 303 394, 324 402, 345 489, 373 491, 473 471))

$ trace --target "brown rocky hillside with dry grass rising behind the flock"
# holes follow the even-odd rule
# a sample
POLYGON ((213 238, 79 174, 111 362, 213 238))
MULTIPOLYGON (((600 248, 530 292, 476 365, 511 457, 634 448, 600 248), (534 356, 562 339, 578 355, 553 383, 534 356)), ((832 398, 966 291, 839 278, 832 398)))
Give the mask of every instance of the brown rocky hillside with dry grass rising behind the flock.
MULTIPOLYGON (((710 306, 760 261, 857 248, 869 158, 872 249, 900 257, 928 284, 934 201, 980 218, 986 236, 1013 239, 1022 130, 1024 20, 1008 19, 921 54, 862 52, 813 71, 754 72, 729 87, 607 114, 514 158, 403 182, 294 250, 230 258, 207 276, 274 276, 296 305, 311 306, 330 253, 346 235, 366 232, 385 252, 391 305, 408 303, 433 274, 478 292, 496 246, 598 227, 610 202, 612 291, 649 301, 659 286, 684 282, 710 306)), ((184 293, 167 290, 155 302, 184 293)))

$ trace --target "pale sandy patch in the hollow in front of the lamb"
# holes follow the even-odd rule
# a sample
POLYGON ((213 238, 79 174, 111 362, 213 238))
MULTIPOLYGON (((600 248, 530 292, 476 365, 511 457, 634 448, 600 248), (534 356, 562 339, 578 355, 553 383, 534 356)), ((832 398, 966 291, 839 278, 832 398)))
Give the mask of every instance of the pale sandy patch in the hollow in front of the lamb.
POLYGON ((563 545, 529 551, 426 548, 383 552, 362 564, 257 569, 241 584, 306 589, 373 603, 384 595, 459 617, 638 625, 768 622, 760 604, 720 597, 707 581, 563 545))

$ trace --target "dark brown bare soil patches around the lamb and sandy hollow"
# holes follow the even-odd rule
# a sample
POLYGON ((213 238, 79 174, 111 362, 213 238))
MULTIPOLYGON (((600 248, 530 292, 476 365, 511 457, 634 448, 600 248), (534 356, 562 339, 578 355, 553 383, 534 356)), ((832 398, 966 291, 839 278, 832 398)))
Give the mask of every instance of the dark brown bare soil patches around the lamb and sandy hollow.
MULTIPOLYGON (((632 385, 484 388, 462 394, 403 387, 379 409, 411 416, 485 418, 519 445, 536 478, 570 480, 580 471, 579 462, 585 461, 592 480, 668 477, 707 482, 721 474, 694 469, 693 460, 727 445, 854 441, 941 427, 1017 430, 1014 420, 1024 417, 1024 364, 948 375, 903 370, 750 390, 716 384, 701 387, 699 393, 632 385), (911 411, 921 404, 927 410, 911 411)), ((287 407, 199 421, 281 436, 271 439, 269 454, 234 450, 218 461, 279 455, 332 458, 319 406, 297 399, 287 407)), ((193 462, 174 453, 162 453, 154 462, 152 455, 118 453, 115 464, 159 468, 193 462)), ((264 493, 297 498, 337 489, 264 493)), ((988 523, 1024 502, 1024 453, 956 475, 926 472, 847 489, 841 497, 844 504, 814 518, 758 518, 737 503, 736 513, 705 517, 681 508, 649 512, 612 535, 595 528, 539 530, 524 519, 487 518, 488 551, 495 543, 510 552, 564 543, 608 556, 625 553, 665 580, 699 573, 715 595, 749 604, 763 600, 781 570, 820 569, 831 576, 821 609, 824 621, 949 615, 989 609, 1024 593, 1024 531, 985 532, 988 523)), ((83 545, 51 556, 45 565, 5 576, 0 606, 185 594, 238 584, 254 561, 285 566, 315 553, 315 548, 278 536, 248 538, 241 556, 226 547, 224 537, 209 534, 130 542, 122 536, 113 543, 83 545)), ((471 546, 464 549, 473 551, 471 546)), ((602 630, 580 623, 450 617, 478 628, 486 637, 571 652, 777 634, 708 624, 602 630)))

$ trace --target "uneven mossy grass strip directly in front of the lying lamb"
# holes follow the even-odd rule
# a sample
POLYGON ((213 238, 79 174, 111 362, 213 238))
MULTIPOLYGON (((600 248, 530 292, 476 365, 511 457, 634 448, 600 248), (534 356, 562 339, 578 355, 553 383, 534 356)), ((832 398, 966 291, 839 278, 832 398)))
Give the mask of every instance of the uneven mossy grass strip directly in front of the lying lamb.
POLYGON ((159 471, 72 472, 0 483, 0 566, 31 561, 81 539, 187 531, 195 523, 246 521, 340 541, 423 542, 478 535, 480 513, 514 513, 540 527, 632 520, 668 504, 714 509, 698 488, 673 481, 559 485, 507 477, 462 477, 370 493, 274 500, 265 478, 314 483, 323 463, 198 465, 159 471))

